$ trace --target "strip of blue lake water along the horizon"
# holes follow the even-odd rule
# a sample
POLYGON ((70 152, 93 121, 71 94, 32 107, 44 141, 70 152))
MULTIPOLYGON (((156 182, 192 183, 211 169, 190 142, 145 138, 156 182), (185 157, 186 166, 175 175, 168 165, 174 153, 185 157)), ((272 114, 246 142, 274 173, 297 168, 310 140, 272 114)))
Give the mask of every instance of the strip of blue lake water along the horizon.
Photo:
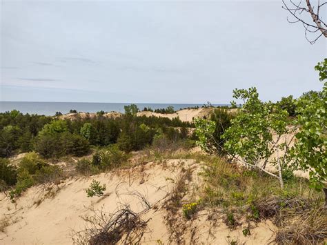
MULTIPOLYGON (((175 110, 188 107, 203 106, 204 104, 138 104, 135 103, 140 110, 144 107, 150 107, 153 110, 158 108, 167 108, 174 106, 175 110)), ((0 101, 0 112, 10 110, 19 110, 22 113, 38 114, 38 115, 54 115, 56 112, 66 114, 69 110, 77 110, 79 112, 97 112, 103 110, 105 112, 118 111, 123 112, 123 106, 130 105, 128 103, 77 103, 77 102, 17 102, 17 101, 0 101)), ((224 106, 224 105, 212 105, 224 106)))

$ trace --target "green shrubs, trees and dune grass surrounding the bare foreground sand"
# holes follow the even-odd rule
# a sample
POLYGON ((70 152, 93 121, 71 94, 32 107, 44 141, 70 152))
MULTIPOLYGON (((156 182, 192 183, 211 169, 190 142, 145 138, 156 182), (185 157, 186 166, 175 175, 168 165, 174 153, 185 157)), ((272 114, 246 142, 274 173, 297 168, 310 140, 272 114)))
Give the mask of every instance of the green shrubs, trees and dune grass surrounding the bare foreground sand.
MULTIPOLYGON (((275 242, 279 244, 325 242, 327 59, 316 70, 324 81, 321 92, 308 92, 299 99, 286 97, 274 104, 261 101, 256 88, 237 89, 234 98, 244 101, 239 107, 232 103, 237 112, 217 108, 208 119, 195 119, 194 124, 178 118, 137 117, 136 105, 125 106, 125 114, 115 119, 103 117, 102 111, 95 118, 75 120, 22 115, 17 110, 1 113, 0 188, 15 202, 31 186, 58 182, 64 177, 56 164, 62 157, 75 157, 72 166, 79 175, 149 161, 195 159, 203 166, 204 184, 191 193, 192 171, 181 167, 163 205, 173 241, 182 243, 190 224, 186 222, 206 209, 221 215, 230 229, 241 228, 244 237, 251 235, 251 224, 270 219, 278 228, 275 242), (195 142, 206 153, 191 153, 195 142), (21 159, 8 158, 23 152, 28 153, 21 159), (294 170, 307 170, 310 176, 296 177, 294 170)), ((86 194, 101 197, 105 191, 105 184, 93 180, 86 194)), ((132 195, 139 197, 139 193, 132 195)), ((152 208, 144 203, 147 210, 152 208)), ((119 241, 126 232, 143 232, 147 223, 128 207, 98 218, 86 220, 106 227, 87 229, 77 241, 119 241)), ((0 231, 8 225, 8 220, 1 219, 0 231)), ((139 242, 132 236, 128 239, 139 242)))

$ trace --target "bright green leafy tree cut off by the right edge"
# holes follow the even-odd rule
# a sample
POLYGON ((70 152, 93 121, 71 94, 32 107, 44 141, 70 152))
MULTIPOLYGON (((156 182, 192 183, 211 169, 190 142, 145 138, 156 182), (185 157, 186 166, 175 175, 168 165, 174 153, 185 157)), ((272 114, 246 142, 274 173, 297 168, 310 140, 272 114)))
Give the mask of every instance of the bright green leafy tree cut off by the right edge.
MULTIPOLYGON (((317 190, 327 180, 327 59, 315 66, 319 79, 324 82, 320 93, 311 93, 297 101, 299 133, 295 144, 296 164, 308 170, 310 183, 317 190)), ((327 205, 327 188, 324 188, 327 205)))

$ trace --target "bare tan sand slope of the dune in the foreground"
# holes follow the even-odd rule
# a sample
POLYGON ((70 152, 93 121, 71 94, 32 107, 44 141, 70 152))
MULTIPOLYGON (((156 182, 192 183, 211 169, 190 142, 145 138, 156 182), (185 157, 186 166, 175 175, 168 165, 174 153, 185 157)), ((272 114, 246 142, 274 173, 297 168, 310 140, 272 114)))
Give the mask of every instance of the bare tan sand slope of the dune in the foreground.
POLYGON ((187 159, 150 162, 93 177, 70 177, 58 186, 32 187, 15 204, 1 194, 0 217, 8 218, 10 225, 4 233, 0 232, 0 244, 72 244, 72 229, 81 231, 85 227, 80 216, 92 216, 90 208, 112 212, 128 204, 135 212, 145 210, 144 202, 135 193, 141 193, 152 206, 141 215, 143 220, 148 220, 142 244, 157 244, 157 241, 176 244, 172 231, 181 227, 184 227, 181 239, 186 244, 228 244, 232 240, 267 244, 274 239, 274 226, 270 222, 257 224, 251 230, 252 235, 244 237, 242 227, 230 231, 219 212, 213 212, 216 216, 212 218, 212 210, 202 210, 190 221, 186 221, 180 210, 173 217, 176 224, 169 226, 167 199, 185 169, 192 173, 192 181, 186 185, 194 190, 201 184, 198 175, 201 164, 187 159), (92 179, 106 184, 108 197, 86 197, 85 188, 92 179))

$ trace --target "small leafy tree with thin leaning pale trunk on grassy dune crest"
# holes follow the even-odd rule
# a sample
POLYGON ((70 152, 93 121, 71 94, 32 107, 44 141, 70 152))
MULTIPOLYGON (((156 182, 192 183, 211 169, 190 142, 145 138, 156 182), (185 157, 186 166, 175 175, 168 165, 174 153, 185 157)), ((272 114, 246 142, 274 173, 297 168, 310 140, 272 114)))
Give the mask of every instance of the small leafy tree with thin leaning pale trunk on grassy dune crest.
POLYGON ((233 92, 235 99, 244 100, 244 106, 222 136, 226 139, 224 148, 234 157, 238 156, 246 166, 277 177, 284 188, 282 172, 290 163, 290 141, 282 136, 295 130, 288 127, 288 112, 271 102, 260 101, 256 88, 233 92), (274 154, 276 157, 272 157, 274 154), (276 166, 278 174, 266 170, 268 163, 276 166))

